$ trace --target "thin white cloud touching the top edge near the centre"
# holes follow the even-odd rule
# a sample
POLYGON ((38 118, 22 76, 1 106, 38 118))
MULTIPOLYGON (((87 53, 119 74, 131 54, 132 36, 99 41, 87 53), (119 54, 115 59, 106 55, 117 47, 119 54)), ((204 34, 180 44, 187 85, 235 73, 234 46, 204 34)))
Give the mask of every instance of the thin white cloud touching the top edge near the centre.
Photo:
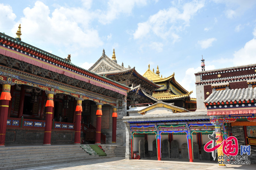
POLYGON ((130 15, 135 5, 144 6, 147 4, 147 0, 109 0, 108 10, 106 12, 98 11, 99 21, 102 24, 108 24, 112 20, 118 18, 121 13, 130 15))

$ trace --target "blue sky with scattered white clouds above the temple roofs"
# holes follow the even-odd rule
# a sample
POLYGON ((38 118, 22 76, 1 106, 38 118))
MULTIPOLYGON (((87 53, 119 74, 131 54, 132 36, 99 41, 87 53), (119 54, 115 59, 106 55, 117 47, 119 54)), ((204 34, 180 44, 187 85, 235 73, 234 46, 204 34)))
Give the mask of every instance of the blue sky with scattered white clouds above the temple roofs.
POLYGON ((159 66, 195 94, 206 70, 256 63, 256 1, 0 1, 0 32, 90 68, 105 49, 143 74, 159 66))

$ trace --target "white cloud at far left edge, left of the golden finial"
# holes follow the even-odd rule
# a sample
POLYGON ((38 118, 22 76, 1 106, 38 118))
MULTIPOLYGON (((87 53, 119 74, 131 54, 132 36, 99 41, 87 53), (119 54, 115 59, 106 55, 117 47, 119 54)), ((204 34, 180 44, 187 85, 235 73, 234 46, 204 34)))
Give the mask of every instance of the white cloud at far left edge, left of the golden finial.
MULTIPOLYGON (((2 30, 0 30, 1 32, 4 32, 5 29, 3 28, 12 28, 14 25, 14 19, 16 18, 16 15, 12 12, 12 7, 10 5, 4 5, 4 4, 0 4, 0 28, 2 28, 2 30)), ((18 28, 18 25, 16 26, 16 29, 18 28)), ((5 31, 6 34, 6 31, 5 31)), ((9 33, 7 33, 9 34, 9 33)))

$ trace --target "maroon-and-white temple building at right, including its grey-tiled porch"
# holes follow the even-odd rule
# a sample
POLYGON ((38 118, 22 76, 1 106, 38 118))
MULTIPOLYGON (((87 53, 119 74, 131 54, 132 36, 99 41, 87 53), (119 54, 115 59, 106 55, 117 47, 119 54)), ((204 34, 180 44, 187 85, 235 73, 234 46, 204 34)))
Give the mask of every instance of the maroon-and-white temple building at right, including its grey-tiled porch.
POLYGON ((240 145, 250 145, 248 159, 256 163, 256 64, 204 71, 202 63, 203 71, 195 73, 196 112, 210 116, 219 137, 217 142, 228 136, 238 139, 238 155, 240 145), (231 134, 227 133, 227 126, 231 127, 231 134))

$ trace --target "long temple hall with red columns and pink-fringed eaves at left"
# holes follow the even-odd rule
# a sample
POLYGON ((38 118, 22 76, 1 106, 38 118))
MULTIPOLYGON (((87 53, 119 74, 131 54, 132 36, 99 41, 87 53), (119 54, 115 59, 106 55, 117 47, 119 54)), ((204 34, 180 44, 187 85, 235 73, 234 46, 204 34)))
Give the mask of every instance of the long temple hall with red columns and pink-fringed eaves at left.
POLYGON ((81 119, 89 142, 124 143, 116 121, 131 88, 22 42, 20 26, 16 34, 0 33, 0 146, 80 144, 81 119))

